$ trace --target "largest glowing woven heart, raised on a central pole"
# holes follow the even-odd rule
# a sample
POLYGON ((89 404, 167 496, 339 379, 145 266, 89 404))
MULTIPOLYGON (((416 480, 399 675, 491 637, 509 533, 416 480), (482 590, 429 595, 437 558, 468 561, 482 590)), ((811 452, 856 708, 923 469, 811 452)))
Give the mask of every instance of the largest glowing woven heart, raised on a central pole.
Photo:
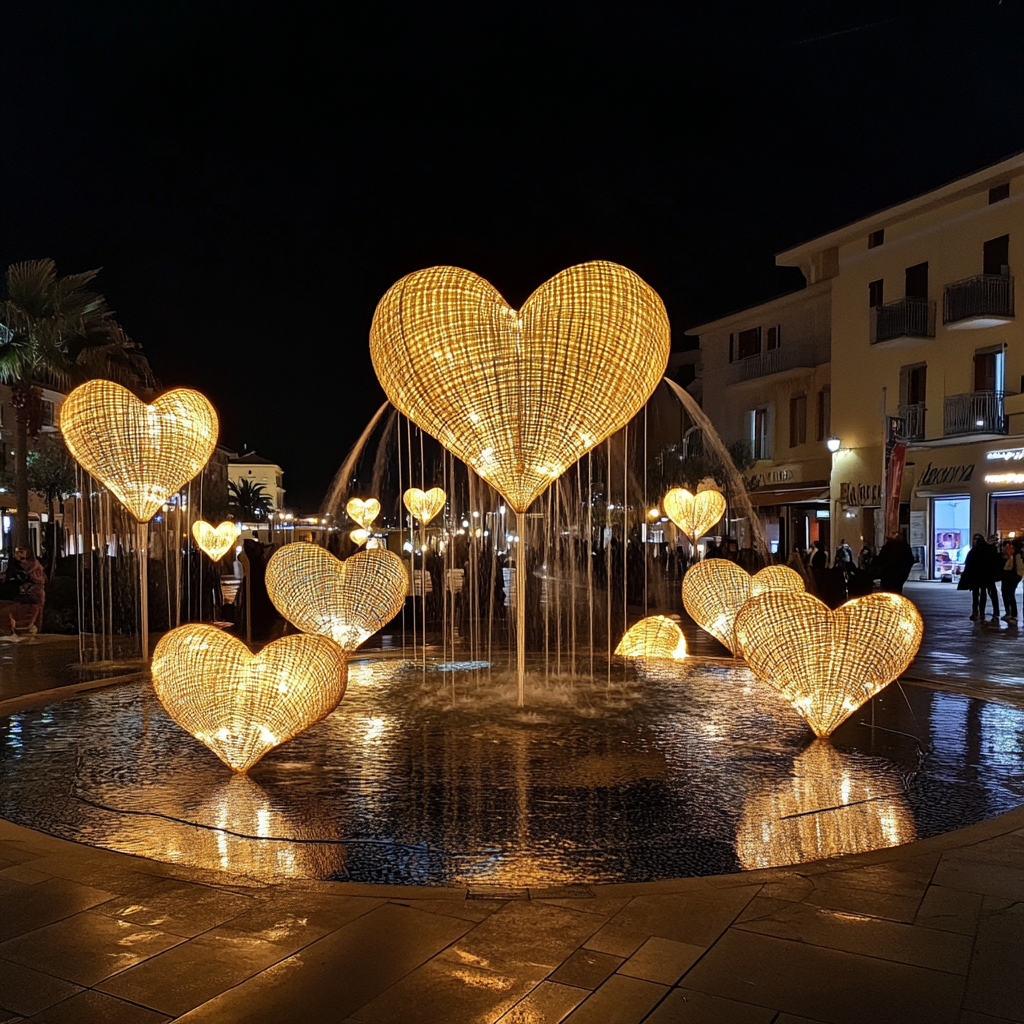
POLYGON ((670 347, 657 293, 604 261, 555 274, 519 311, 469 270, 419 270, 370 329, 392 404, 517 512, 643 409, 670 347))

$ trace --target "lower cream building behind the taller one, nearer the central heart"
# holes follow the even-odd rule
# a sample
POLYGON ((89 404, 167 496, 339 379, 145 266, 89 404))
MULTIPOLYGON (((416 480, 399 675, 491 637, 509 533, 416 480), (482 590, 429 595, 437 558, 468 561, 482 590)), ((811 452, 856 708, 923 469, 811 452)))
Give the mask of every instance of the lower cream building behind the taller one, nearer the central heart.
MULTIPOLYGON (((754 458, 743 473, 751 501, 783 558, 831 544, 830 298, 830 283, 816 283, 686 332, 700 338, 703 411, 754 458)), ((744 524, 735 526, 743 547, 744 524)))

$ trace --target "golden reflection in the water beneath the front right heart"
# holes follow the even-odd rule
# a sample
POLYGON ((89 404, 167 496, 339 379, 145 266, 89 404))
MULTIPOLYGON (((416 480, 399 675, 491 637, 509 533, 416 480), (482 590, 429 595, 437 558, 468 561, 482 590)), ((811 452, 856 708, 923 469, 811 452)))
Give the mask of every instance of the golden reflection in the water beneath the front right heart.
POLYGON ((815 740, 794 762, 791 778, 748 797, 736 826, 744 870, 867 853, 918 838, 895 770, 854 762, 815 740))

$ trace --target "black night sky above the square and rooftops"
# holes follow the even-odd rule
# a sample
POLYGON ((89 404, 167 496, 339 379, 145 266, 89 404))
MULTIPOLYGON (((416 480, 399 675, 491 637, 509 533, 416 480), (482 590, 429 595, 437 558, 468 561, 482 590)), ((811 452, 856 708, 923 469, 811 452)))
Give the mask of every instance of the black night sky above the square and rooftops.
POLYGON ((674 332, 773 254, 1024 148, 1024 0, 8 0, 3 265, 102 266, 167 386, 313 508, 383 400, 402 274, 513 304, 617 260, 674 332))

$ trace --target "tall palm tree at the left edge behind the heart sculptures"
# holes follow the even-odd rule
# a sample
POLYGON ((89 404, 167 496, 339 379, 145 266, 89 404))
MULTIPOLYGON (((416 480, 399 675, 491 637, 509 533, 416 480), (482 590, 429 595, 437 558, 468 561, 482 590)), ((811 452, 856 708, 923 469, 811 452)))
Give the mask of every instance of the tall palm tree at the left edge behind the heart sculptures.
POLYGON ((14 544, 29 541, 29 439, 41 425, 41 384, 57 389, 92 377, 135 386, 156 382, 148 362, 86 286, 98 270, 58 278, 51 259, 12 263, 0 302, 0 382, 15 413, 14 544))

